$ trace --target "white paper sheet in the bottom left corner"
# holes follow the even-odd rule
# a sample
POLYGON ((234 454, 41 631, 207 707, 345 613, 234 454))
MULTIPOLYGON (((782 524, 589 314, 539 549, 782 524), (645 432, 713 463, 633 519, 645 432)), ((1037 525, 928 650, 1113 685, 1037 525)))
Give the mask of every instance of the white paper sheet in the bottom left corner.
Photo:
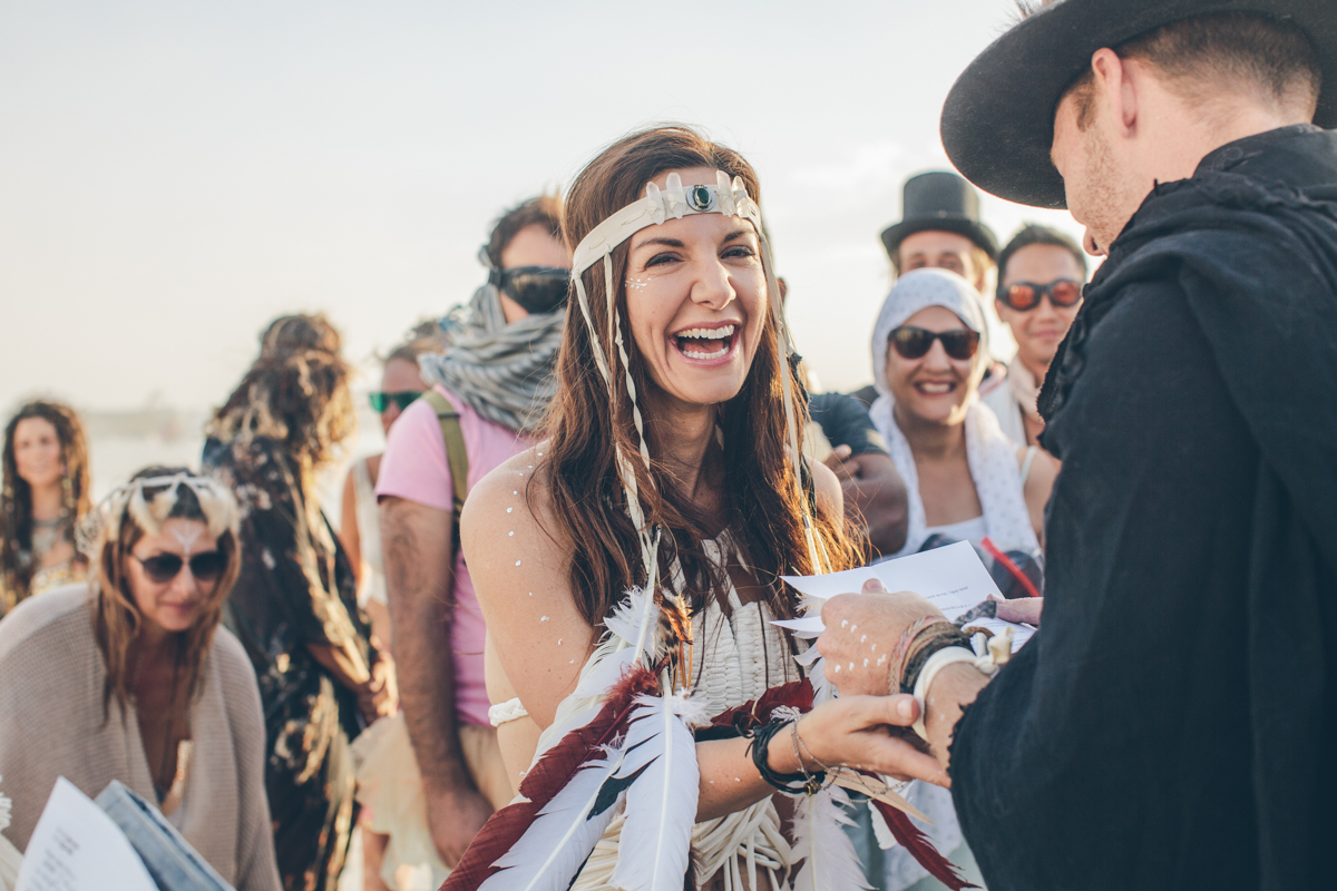
POLYGON ((15 891, 158 891, 158 886, 120 827, 60 777, 28 840, 15 891))

